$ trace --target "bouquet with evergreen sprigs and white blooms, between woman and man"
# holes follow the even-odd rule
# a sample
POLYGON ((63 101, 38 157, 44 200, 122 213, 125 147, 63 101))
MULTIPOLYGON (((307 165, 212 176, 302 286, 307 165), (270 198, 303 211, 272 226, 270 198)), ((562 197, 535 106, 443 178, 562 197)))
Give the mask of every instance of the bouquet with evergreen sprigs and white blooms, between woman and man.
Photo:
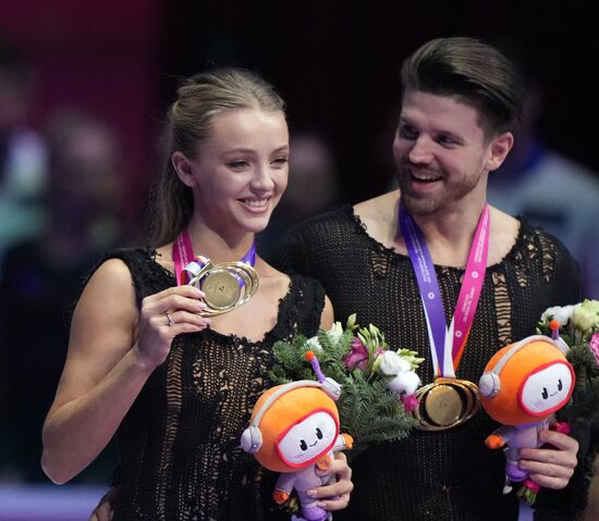
POLYGON ((424 358, 408 349, 391 349, 378 327, 360 327, 355 314, 345 327, 335 322, 313 338, 296 335, 277 342, 273 351, 276 364, 269 377, 277 385, 314 380, 305 353, 317 355, 322 372, 341 384, 341 430, 354 437, 354 449, 402 439, 415 425, 409 413, 417 406, 415 392, 420 385, 415 370, 424 358))

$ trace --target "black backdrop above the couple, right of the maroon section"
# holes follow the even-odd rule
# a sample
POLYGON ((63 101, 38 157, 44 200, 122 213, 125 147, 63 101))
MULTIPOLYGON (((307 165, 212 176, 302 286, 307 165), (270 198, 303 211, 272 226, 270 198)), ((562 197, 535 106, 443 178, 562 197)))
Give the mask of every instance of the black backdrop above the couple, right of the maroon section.
MULTIPOLYGON (((599 170, 599 17, 577 2, 302 1, 196 2, 167 8, 169 62, 183 74, 212 63, 255 66, 283 92, 293 127, 323 134, 334 148, 344 196, 388 186, 401 61, 438 36, 517 39, 546 89, 542 134, 599 170)), ((584 3, 584 2, 579 2, 584 3)), ((591 2, 586 2, 590 5, 591 2)))

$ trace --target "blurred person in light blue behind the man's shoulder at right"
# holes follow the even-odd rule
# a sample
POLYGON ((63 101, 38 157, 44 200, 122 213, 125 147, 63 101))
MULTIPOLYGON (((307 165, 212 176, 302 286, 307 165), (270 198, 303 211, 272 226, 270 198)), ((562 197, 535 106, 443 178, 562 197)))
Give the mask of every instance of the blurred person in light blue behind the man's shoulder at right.
POLYGON ((549 109, 535 60, 513 39, 500 47, 519 66, 527 97, 514 148, 489 176, 489 202, 560 238, 580 263, 585 297, 599 298, 599 175, 543 141, 538 123, 549 109))

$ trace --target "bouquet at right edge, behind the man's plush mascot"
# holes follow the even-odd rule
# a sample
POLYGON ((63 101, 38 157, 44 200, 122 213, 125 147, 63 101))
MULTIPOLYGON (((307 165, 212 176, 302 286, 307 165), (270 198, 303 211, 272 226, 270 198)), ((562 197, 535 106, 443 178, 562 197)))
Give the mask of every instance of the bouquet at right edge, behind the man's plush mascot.
POLYGON ((558 411, 558 419, 570 425, 595 422, 599 420, 599 300, 547 309, 538 333, 551 336, 551 321, 558 322, 570 347, 566 358, 576 374, 572 398, 558 411))

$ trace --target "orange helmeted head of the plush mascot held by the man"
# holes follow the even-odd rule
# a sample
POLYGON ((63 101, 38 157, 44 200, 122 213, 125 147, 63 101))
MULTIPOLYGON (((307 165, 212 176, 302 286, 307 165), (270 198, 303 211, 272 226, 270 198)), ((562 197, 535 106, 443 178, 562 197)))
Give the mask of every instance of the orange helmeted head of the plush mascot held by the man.
POLYGON ((567 404, 574 389, 574 370, 549 340, 526 343, 510 356, 514 346, 499 350, 485 368, 481 382, 494 373, 499 392, 481 394, 480 404, 493 420, 505 425, 537 423, 567 404))

